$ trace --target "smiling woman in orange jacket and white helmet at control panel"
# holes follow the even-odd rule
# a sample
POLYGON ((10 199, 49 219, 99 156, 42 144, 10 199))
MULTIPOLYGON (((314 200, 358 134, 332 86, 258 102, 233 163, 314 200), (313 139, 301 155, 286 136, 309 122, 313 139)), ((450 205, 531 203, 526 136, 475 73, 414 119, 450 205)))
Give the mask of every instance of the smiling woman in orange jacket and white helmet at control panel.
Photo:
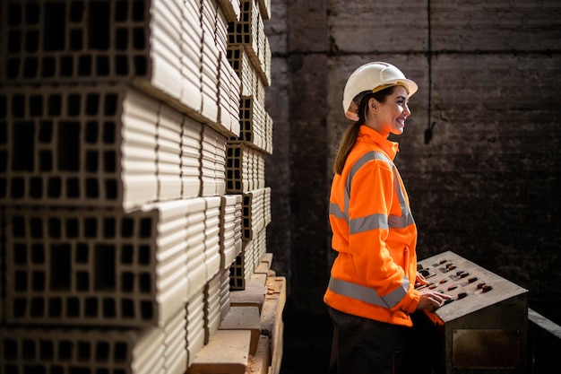
POLYGON ((401 71, 371 62, 350 75, 345 116, 355 121, 333 165, 329 219, 338 255, 324 301, 333 322, 330 373, 406 372, 410 313, 436 309, 450 296, 415 289, 417 227, 393 164, 418 89, 401 71))

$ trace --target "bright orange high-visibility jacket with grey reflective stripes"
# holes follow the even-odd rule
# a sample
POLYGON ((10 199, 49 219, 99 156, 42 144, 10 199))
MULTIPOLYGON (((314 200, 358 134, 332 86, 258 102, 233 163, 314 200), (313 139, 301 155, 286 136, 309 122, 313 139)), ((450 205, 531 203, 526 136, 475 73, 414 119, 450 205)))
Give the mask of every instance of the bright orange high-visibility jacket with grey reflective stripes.
POLYGON ((344 313, 412 326, 417 309, 417 226, 393 159, 398 144, 368 126, 341 175, 335 174, 329 220, 332 265, 324 302, 344 313))

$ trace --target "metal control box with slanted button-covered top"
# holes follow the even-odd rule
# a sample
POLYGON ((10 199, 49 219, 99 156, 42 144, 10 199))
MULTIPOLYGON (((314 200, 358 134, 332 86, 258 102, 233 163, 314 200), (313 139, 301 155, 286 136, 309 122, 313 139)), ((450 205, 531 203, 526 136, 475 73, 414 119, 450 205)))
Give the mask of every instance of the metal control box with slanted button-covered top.
MULTIPOLYGON (((429 282, 453 300, 425 311, 435 374, 525 373, 528 291, 451 251, 419 261, 429 282)), ((427 331, 428 331, 427 330, 427 331)))

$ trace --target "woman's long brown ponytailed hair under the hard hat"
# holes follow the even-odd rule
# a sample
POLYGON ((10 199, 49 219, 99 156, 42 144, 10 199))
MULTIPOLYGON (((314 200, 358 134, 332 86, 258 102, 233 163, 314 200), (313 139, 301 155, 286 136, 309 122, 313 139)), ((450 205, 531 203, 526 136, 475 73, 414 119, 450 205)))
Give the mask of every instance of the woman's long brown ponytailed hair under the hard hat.
POLYGON ((360 126, 364 125, 367 121, 368 101, 370 101, 370 99, 375 99, 379 102, 385 102, 386 98, 393 93, 393 90, 395 90, 395 86, 388 87, 374 93, 371 91, 362 91, 355 96, 353 101, 360 100, 358 103, 358 121, 350 125, 343 133, 339 149, 337 150, 337 155, 335 156, 335 161, 333 162, 333 171, 335 174, 342 173, 347 157, 349 157, 350 150, 357 142, 360 126))

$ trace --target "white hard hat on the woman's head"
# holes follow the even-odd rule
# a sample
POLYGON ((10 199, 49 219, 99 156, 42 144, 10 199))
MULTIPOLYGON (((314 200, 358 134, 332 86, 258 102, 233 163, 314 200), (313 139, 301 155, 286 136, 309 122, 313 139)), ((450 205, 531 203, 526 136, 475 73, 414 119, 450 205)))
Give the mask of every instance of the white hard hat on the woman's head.
POLYGON ((347 83, 345 84, 345 91, 343 91, 343 110, 345 117, 358 120, 356 113, 357 105, 353 103, 353 99, 360 92, 364 91, 380 91, 384 88, 394 85, 401 85, 409 92, 411 97, 413 93, 417 92, 417 83, 405 78, 401 70, 392 64, 385 62, 370 62, 358 67, 352 74, 350 74, 347 83))

